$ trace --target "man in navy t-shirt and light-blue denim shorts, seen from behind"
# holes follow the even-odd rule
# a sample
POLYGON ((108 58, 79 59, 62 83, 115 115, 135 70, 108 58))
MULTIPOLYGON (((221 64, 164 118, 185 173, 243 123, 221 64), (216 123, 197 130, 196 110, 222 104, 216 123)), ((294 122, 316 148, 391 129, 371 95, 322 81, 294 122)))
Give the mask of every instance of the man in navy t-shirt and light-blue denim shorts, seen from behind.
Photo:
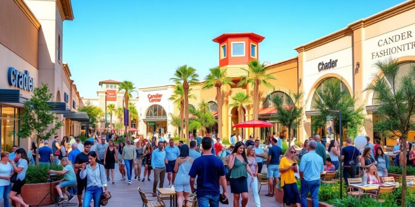
POLYGON ((272 147, 268 149, 268 159, 266 160, 266 167, 267 170, 267 177, 268 177, 268 193, 265 196, 272 197, 273 195, 273 181, 272 178, 275 179, 275 185, 278 185, 280 182, 280 159, 283 156, 281 147, 277 146, 277 139, 275 137, 271 137, 271 145, 272 147))

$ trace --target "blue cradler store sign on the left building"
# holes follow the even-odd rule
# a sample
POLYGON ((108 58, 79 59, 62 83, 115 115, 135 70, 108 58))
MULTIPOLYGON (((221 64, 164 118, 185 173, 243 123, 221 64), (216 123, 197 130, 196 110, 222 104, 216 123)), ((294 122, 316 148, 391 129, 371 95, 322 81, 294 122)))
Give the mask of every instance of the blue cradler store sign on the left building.
POLYGON ((11 86, 33 92, 34 78, 30 77, 29 71, 25 70, 23 73, 16 70, 14 67, 9 67, 7 79, 11 86))

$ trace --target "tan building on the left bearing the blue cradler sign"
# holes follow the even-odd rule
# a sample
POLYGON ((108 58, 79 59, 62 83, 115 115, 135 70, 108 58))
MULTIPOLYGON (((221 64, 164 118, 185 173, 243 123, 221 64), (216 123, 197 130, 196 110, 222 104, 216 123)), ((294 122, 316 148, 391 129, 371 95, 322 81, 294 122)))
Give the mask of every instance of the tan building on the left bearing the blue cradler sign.
POLYGON ((13 145, 29 148, 30 139, 17 136, 24 101, 42 83, 49 86, 56 102, 58 135, 78 135, 80 122, 88 120, 76 112, 79 92, 62 61, 63 21, 73 20, 70 0, 0 1, 0 135, 1 151, 13 145))

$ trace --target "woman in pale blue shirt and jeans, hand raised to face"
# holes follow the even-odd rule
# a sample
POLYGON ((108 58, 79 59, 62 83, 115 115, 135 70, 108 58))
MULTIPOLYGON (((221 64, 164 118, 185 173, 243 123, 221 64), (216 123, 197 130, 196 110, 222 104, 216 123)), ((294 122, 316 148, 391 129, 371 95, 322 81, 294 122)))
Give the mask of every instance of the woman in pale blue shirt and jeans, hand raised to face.
POLYGON ((88 154, 89 164, 82 164, 80 177, 87 177, 85 195, 83 196, 83 207, 89 207, 91 200, 94 200, 94 207, 100 207, 100 197, 105 189, 105 196, 108 197, 107 176, 103 165, 97 163, 97 154, 92 151, 88 154))

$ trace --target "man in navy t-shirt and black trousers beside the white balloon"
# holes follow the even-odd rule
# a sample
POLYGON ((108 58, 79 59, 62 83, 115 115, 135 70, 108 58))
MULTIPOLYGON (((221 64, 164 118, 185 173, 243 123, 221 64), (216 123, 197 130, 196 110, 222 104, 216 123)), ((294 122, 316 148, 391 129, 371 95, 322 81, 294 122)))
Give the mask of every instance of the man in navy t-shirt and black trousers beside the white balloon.
POLYGON ((348 185, 347 179, 356 175, 357 160, 360 159, 360 151, 352 145, 352 139, 347 138, 347 146, 342 149, 343 177, 348 185))

